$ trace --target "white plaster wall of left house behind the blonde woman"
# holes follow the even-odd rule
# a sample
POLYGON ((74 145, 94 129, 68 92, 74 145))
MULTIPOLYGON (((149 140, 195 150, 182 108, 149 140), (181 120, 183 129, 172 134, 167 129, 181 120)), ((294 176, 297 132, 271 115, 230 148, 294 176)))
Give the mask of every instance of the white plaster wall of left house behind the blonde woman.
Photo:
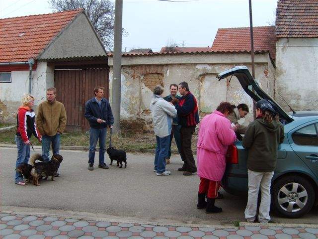
MULTIPOLYGON (((54 86, 54 69, 46 62, 38 62, 32 71, 31 95, 36 99, 34 110, 38 104, 46 99, 46 89, 54 86)), ((28 93, 29 71, 12 71, 11 83, 0 83, 0 120, 15 122, 16 110, 21 105, 21 97, 28 93)))

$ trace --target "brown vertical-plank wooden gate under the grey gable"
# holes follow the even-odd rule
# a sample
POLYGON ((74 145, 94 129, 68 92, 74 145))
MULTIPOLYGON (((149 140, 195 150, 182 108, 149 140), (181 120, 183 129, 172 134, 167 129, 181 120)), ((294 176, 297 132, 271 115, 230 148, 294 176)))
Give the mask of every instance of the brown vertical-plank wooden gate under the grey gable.
POLYGON ((68 129, 89 127, 84 117, 85 102, 94 96, 96 86, 105 87, 104 97, 109 98, 108 73, 106 67, 55 69, 57 100, 65 106, 68 129))

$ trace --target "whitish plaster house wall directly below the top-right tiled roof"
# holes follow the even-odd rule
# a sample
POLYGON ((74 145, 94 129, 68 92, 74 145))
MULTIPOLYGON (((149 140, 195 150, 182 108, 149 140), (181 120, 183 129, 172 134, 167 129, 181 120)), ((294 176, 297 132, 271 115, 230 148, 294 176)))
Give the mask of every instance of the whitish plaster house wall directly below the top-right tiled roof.
POLYGON ((275 100, 291 111, 318 110, 318 38, 282 38, 276 43, 275 100))

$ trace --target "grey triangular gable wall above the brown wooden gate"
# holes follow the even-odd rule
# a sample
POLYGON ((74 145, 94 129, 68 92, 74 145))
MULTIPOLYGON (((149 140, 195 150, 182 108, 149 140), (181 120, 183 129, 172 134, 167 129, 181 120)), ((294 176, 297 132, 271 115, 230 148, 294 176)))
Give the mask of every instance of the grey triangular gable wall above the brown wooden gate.
POLYGON ((39 59, 106 55, 91 24, 84 13, 59 35, 40 55, 39 59))

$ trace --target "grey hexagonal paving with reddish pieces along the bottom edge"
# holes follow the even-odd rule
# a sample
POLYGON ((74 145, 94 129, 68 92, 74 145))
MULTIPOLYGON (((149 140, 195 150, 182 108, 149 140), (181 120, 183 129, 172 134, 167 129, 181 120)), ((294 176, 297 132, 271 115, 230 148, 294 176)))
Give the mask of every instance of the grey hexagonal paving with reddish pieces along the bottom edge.
POLYGON ((317 228, 177 227, 0 213, 0 239, 317 239, 317 228))

